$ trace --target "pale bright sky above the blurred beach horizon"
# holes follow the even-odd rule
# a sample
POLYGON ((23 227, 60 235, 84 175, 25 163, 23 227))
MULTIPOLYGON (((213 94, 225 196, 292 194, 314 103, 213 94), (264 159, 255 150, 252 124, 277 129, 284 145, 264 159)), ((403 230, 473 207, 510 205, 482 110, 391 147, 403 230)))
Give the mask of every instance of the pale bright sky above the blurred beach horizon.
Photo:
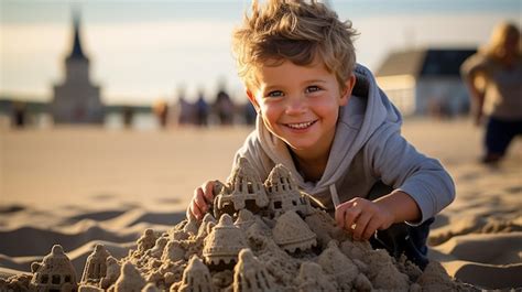
MULTIPOLYGON (((360 33, 357 61, 377 71, 392 51, 477 47, 502 20, 522 24, 522 0, 329 0, 360 33)), ((64 79, 72 11, 80 10, 90 79, 107 104, 215 98, 219 84, 244 100, 231 32, 250 1, 0 0, 0 97, 50 100, 64 79)))

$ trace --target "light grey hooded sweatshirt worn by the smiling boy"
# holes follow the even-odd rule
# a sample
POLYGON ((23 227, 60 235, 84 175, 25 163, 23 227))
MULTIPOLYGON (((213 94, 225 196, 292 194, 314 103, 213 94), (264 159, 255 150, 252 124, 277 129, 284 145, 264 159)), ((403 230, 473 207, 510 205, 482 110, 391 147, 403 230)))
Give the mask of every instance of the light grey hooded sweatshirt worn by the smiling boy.
POLYGON ((276 163, 285 165, 298 185, 328 212, 354 197, 366 197, 382 181, 416 202, 420 225, 455 198, 452 177, 437 160, 418 153, 401 136, 402 117, 378 87, 371 72, 357 65, 356 86, 347 106, 339 108, 336 133, 325 173, 318 182, 305 182, 287 145, 273 136, 258 117, 255 130, 236 153, 246 156, 265 179, 276 163))

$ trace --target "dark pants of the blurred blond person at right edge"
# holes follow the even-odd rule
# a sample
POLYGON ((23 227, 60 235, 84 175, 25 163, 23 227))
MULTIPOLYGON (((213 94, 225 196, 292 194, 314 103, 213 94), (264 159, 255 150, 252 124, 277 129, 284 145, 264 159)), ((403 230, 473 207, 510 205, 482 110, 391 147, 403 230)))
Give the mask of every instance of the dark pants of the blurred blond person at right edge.
POLYGON ((522 134, 522 120, 507 121, 489 118, 485 137, 487 154, 503 156, 511 140, 520 134, 522 134))

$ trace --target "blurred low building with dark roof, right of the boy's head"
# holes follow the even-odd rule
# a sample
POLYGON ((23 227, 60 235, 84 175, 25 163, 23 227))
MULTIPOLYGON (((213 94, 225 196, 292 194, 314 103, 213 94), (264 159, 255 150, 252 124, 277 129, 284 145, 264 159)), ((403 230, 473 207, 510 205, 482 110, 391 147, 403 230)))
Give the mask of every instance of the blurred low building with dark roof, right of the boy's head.
POLYGON ((393 52, 377 71, 377 82, 404 116, 455 116, 469 110, 460 64, 472 48, 393 52))

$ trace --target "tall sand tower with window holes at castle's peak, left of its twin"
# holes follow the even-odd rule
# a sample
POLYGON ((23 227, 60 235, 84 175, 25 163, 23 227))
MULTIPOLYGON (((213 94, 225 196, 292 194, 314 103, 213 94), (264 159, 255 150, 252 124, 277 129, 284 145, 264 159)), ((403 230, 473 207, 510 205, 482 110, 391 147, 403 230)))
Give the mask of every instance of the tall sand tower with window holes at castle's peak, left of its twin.
POLYGON ((267 191, 255 170, 246 158, 240 158, 228 182, 227 187, 214 201, 214 214, 235 215, 240 209, 258 213, 269 204, 267 191))

